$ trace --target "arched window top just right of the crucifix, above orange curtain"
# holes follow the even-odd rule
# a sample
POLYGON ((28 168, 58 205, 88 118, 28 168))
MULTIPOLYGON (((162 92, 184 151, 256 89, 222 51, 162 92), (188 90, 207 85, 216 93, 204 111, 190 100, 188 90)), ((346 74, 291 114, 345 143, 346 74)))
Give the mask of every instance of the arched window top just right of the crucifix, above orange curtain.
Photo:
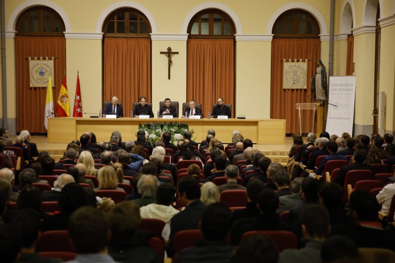
POLYGON ((188 25, 190 38, 234 38, 235 32, 232 19, 218 9, 198 12, 188 25))

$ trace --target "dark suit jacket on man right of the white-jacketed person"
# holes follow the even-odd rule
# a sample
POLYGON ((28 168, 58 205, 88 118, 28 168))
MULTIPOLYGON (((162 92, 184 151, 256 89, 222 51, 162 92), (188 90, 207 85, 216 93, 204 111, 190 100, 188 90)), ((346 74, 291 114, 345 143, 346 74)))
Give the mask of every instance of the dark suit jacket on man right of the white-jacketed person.
POLYGON ((196 200, 191 202, 183 211, 173 216, 170 221, 169 242, 166 245, 167 256, 173 256, 173 241, 176 233, 181 230, 199 228, 199 221, 206 207, 202 201, 196 200))

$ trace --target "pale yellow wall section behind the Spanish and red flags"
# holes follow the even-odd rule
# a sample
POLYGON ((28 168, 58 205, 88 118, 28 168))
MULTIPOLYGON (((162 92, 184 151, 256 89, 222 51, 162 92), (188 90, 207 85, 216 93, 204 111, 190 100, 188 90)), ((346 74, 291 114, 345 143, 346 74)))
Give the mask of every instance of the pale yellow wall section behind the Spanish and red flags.
POLYGON ((82 99, 82 112, 102 110, 102 40, 66 39, 67 87, 70 96, 70 116, 73 115, 77 71, 82 99))

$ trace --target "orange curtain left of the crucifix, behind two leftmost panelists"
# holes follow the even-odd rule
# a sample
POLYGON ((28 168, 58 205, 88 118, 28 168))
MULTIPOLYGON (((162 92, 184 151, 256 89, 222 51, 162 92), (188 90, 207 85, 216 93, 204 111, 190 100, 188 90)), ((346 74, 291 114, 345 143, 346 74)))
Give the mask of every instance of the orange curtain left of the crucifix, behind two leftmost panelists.
POLYGON ((151 40, 104 39, 104 101, 118 96, 128 116, 140 96, 151 101, 151 40))

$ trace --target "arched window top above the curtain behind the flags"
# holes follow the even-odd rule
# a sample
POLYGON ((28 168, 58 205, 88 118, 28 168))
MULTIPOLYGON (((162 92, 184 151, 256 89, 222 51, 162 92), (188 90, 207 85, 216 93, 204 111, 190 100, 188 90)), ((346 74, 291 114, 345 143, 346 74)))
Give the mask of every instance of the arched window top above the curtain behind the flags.
POLYGON ((59 14, 48 7, 24 11, 16 23, 17 36, 64 36, 65 25, 59 14))

